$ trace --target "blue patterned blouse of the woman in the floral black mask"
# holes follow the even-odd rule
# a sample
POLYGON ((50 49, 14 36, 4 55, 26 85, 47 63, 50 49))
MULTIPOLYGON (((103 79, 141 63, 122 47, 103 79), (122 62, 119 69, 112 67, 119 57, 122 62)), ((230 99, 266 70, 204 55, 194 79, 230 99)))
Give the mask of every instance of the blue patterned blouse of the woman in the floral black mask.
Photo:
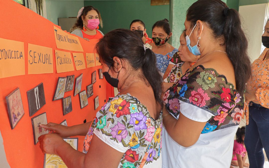
POLYGON ((176 52, 178 52, 178 49, 175 48, 173 51, 168 52, 166 55, 155 54, 157 58, 157 67, 160 73, 162 74, 162 76, 164 75, 169 65, 169 61, 172 59, 172 57, 174 56, 176 52))

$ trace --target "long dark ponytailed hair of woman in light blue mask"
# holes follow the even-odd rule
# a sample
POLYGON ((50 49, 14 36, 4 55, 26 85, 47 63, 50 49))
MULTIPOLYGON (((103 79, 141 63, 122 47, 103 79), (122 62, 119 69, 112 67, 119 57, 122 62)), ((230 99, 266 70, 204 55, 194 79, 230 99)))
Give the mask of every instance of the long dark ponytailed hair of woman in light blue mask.
POLYGON ((206 22, 215 38, 223 38, 226 52, 235 70, 236 88, 240 95, 251 75, 247 39, 241 28, 239 13, 221 0, 198 0, 187 10, 186 20, 193 27, 197 20, 206 22), (225 9, 225 10, 224 10, 225 9))

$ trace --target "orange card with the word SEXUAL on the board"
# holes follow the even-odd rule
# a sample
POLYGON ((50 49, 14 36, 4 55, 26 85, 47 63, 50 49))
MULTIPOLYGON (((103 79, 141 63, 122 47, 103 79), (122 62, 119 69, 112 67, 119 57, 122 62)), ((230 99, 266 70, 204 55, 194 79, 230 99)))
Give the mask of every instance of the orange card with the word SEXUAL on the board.
POLYGON ((28 44, 28 74, 53 73, 52 48, 28 44))

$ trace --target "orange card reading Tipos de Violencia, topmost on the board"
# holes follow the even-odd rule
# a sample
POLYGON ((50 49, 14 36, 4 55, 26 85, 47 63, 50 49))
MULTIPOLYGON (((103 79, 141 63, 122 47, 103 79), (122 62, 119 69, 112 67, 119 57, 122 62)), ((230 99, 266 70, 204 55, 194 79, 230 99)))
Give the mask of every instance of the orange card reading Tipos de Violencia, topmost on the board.
POLYGON ((64 32, 58 27, 53 26, 57 48, 71 51, 83 51, 79 38, 64 32))

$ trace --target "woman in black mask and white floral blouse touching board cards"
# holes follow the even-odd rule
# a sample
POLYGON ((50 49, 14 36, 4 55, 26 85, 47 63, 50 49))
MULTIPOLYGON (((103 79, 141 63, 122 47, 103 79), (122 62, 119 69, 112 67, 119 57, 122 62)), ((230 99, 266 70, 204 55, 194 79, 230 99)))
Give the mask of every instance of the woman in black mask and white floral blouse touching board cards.
POLYGON ((93 121, 66 127, 40 124, 56 134, 39 137, 44 153, 67 167, 161 167, 162 77, 156 57, 136 32, 112 30, 97 43, 105 79, 118 87, 93 121), (115 39, 117 42, 115 43, 115 39), (61 137, 86 135, 83 153, 61 137))

